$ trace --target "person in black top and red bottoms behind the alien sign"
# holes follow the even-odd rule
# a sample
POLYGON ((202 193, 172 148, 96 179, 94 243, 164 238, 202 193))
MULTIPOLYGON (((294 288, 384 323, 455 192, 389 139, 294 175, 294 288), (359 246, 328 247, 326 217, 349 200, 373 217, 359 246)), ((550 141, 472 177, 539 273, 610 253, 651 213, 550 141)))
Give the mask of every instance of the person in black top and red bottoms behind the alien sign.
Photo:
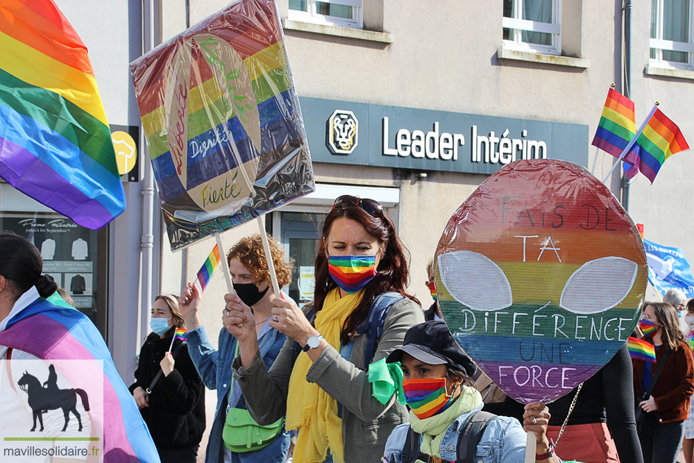
MULTIPOLYGON (((557 440, 576 389, 552 403, 547 435, 557 440)), ((557 455, 581 462, 642 463, 641 444, 634 421, 632 360, 627 344, 583 383, 557 455)))

